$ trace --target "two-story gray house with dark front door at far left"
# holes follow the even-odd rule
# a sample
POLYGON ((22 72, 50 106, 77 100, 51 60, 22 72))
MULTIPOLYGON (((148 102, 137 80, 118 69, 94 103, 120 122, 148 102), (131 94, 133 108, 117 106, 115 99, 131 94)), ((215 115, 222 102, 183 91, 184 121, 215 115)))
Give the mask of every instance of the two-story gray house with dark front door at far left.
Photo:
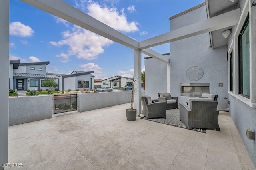
POLYGON ((42 86, 44 79, 58 79, 55 75, 46 74, 46 65, 50 62, 20 63, 20 60, 10 60, 9 88, 15 91, 48 89, 42 86))

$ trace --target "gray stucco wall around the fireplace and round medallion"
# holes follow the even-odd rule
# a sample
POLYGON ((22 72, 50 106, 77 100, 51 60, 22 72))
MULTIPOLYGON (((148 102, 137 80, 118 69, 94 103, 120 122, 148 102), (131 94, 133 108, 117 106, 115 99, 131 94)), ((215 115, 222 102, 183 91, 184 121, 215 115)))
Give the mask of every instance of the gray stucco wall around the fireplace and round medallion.
MULTIPOLYGON (((201 6, 170 20, 171 30, 207 19, 206 6, 201 6)), ((200 34, 170 43, 171 95, 179 97, 179 103, 186 103, 189 97, 181 96, 181 83, 210 83, 210 93, 218 95, 218 109, 228 108, 227 46, 212 49, 209 33, 200 34), (186 71, 193 66, 200 67, 204 75, 191 81, 186 71), (221 73, 221 74, 220 74, 221 73), (223 87, 218 87, 223 83, 223 87)), ((145 93, 152 99, 158 93, 167 91, 167 65, 150 58, 145 59, 145 93)))

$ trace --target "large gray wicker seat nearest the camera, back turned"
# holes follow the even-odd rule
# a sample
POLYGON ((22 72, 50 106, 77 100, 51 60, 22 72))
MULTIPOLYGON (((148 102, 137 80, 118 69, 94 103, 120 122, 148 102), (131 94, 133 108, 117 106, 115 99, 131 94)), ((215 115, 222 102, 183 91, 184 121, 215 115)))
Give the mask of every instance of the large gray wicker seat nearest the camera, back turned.
POLYGON ((180 121, 182 121, 188 129, 206 128, 220 131, 217 105, 218 101, 192 100, 191 106, 188 108, 186 104, 180 103, 180 121))

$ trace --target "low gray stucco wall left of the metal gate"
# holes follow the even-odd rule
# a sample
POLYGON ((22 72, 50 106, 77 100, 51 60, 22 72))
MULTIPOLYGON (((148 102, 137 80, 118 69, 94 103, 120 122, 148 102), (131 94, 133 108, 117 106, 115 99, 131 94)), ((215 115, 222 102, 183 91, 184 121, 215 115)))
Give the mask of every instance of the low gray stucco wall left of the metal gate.
POLYGON ((52 95, 9 98, 9 126, 52 118, 52 95))

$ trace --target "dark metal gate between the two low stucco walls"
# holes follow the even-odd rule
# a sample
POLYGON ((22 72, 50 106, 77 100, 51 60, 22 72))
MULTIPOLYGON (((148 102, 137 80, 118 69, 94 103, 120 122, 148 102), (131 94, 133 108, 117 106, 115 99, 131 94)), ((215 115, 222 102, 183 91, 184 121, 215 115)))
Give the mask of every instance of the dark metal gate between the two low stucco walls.
POLYGON ((77 109, 77 95, 54 95, 53 114, 75 111, 77 109))

